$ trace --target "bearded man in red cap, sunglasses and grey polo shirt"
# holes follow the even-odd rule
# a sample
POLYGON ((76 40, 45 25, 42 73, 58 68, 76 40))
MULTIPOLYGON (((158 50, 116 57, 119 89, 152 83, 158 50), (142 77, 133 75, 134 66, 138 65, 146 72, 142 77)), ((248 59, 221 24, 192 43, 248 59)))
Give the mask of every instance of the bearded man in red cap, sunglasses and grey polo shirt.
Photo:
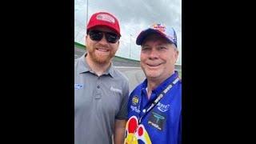
POLYGON ((74 143, 124 142, 128 79, 111 62, 120 27, 113 14, 98 12, 86 27, 86 54, 74 61, 74 143))

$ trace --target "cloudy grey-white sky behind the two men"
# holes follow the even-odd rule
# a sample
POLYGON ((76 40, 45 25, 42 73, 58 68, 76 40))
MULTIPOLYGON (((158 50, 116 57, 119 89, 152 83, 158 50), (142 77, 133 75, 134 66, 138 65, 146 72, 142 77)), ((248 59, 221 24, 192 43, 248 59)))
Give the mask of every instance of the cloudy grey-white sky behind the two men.
MULTIPOLYGON (((87 0, 74 0, 74 41, 85 45, 87 0)), ((139 60, 138 34, 153 23, 174 27, 182 64, 182 0, 88 0, 88 21, 92 14, 106 11, 119 20, 121 35, 116 55, 139 60)))

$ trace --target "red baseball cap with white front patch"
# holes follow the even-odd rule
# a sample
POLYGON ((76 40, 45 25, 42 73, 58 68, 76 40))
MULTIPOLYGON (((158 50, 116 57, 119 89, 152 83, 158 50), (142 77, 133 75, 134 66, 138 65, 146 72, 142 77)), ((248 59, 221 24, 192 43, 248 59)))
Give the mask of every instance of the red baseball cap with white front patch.
POLYGON ((118 19, 110 13, 98 12, 93 14, 87 24, 87 31, 94 26, 107 26, 111 30, 114 30, 119 36, 121 36, 118 19))

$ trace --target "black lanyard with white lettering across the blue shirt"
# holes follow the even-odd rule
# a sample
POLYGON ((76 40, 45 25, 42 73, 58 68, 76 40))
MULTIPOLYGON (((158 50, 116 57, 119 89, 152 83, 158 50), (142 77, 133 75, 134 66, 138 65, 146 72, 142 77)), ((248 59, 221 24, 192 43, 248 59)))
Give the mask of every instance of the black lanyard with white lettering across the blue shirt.
POLYGON ((156 106, 158 104, 158 102, 162 99, 162 97, 164 96, 164 94, 167 93, 168 90, 170 90, 177 82, 178 82, 179 78, 175 78, 173 82, 171 82, 169 84, 169 86, 166 87, 165 90, 162 91, 161 94, 158 95, 158 98, 155 98, 154 102, 151 102, 151 104, 148 104, 143 110, 142 110, 142 116, 140 116, 138 118, 138 125, 142 122, 142 118, 145 117, 146 114, 149 113, 150 110, 152 110, 154 108, 154 106, 156 106))

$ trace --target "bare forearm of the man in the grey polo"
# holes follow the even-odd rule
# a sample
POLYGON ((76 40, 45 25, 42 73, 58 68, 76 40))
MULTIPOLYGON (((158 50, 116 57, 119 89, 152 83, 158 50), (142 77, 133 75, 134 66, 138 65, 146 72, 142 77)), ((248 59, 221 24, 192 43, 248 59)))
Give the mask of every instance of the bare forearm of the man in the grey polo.
POLYGON ((114 144, 123 144, 125 140, 126 120, 114 121, 114 144))

